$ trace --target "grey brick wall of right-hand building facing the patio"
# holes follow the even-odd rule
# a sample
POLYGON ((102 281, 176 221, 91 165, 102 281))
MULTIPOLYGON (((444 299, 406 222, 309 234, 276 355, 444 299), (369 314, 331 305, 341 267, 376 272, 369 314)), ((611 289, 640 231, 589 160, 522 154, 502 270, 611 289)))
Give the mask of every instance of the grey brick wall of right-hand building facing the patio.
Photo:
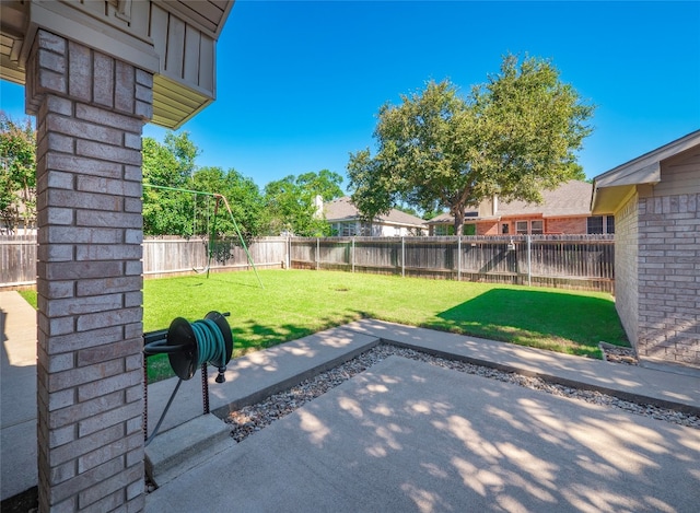
POLYGON ((640 357, 700 366, 700 195, 640 199, 639 272, 640 357))

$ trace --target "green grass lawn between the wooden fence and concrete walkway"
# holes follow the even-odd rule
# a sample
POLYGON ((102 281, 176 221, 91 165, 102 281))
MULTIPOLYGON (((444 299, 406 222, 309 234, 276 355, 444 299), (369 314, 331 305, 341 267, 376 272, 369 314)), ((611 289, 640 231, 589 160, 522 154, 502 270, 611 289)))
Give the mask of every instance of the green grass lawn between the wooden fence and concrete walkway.
MULTIPOLYGON (((332 271, 261 270, 144 282, 144 330, 173 318, 230 312, 234 357, 361 317, 600 358, 598 342, 629 346, 606 293, 332 271)), ((170 370, 149 359, 149 374, 170 370)))

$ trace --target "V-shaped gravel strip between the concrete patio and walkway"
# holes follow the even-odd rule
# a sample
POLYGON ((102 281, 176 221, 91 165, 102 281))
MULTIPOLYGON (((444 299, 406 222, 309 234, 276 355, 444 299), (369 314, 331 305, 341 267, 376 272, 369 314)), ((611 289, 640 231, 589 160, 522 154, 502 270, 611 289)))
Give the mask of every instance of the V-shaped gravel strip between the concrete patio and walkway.
POLYGON ((375 363, 381 362, 390 355, 409 358, 411 360, 431 363, 453 371, 477 374, 492 380, 547 392, 558 396, 620 408, 625 411, 653 417, 657 420, 700 429, 700 418, 693 415, 660 408, 652 405, 638 405, 635 403, 618 399, 617 397, 600 394, 598 392, 556 385, 547 383, 538 377, 527 377, 521 374, 474 365, 471 363, 446 360, 424 352, 415 351, 412 349, 382 343, 374 349, 371 349, 359 357, 331 369, 330 371, 320 373, 311 380, 306 380, 288 390, 275 394, 256 405, 246 406, 240 410, 231 412, 225 419, 226 422, 231 424, 231 435, 236 442, 241 442, 250 434, 260 431, 266 425, 269 425, 271 422, 291 413, 296 408, 325 394, 330 388, 340 385, 342 382, 368 370, 375 363))

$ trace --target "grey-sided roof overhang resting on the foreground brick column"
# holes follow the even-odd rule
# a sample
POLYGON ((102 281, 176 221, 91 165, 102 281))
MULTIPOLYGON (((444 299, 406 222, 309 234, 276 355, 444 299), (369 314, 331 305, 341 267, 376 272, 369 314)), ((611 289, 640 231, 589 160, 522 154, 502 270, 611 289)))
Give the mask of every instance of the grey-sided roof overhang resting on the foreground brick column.
POLYGON ((25 83, 44 28, 153 73, 152 123, 176 129, 217 96, 215 43, 234 1, 2 0, 0 78, 25 83))

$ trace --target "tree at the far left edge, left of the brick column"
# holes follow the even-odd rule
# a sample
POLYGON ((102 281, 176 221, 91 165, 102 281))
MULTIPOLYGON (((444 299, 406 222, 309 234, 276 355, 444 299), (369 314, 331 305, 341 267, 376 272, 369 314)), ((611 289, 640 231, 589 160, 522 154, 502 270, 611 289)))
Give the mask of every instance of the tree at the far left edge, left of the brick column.
POLYGON ((31 118, 16 123, 1 110, 0 219, 9 230, 36 219, 36 132, 31 118))

